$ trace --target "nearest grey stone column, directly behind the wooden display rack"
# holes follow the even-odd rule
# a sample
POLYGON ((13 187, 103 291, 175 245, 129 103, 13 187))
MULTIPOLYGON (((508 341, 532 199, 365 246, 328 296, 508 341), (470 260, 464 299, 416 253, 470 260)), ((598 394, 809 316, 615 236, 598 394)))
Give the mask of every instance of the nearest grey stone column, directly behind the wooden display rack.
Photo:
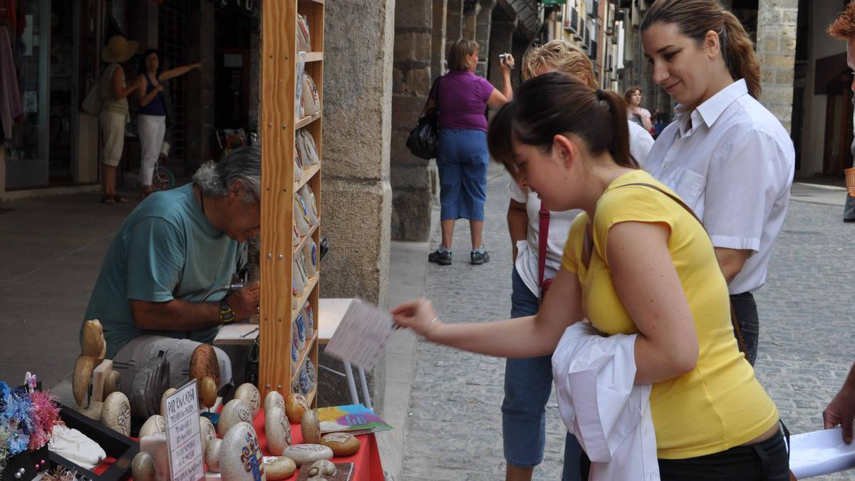
MULTIPOLYGON (((394 0, 326 4, 321 235, 330 248, 321 262, 324 298, 388 303, 394 12, 394 0)), ((320 361, 342 371, 329 356, 320 361)), ((366 374, 382 413, 385 365, 366 374)), ((322 370, 318 377, 319 406, 350 403, 344 378, 322 370)))

